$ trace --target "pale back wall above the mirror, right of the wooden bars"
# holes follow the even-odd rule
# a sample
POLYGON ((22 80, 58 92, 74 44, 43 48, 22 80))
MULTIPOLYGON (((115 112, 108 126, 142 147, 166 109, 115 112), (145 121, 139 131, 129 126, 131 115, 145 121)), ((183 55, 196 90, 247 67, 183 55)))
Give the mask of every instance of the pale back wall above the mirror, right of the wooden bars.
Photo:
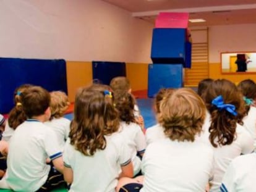
POLYGON ((209 27, 210 63, 220 63, 221 52, 256 52, 256 24, 209 27))

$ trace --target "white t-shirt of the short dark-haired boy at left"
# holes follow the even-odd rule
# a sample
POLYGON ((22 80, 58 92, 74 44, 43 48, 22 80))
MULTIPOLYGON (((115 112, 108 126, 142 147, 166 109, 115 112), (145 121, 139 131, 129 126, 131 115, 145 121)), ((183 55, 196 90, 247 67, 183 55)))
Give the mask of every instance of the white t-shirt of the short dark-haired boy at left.
POLYGON ((48 178, 51 160, 62 156, 51 128, 28 119, 14 131, 9 142, 6 182, 14 191, 36 191, 48 178))

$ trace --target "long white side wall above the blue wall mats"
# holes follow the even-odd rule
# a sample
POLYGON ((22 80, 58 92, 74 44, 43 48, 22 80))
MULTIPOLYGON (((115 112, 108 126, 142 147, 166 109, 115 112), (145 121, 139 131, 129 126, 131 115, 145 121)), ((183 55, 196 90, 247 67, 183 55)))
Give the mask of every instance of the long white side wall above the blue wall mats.
POLYGON ((100 0, 0 0, 0 57, 151 62, 153 24, 100 0))

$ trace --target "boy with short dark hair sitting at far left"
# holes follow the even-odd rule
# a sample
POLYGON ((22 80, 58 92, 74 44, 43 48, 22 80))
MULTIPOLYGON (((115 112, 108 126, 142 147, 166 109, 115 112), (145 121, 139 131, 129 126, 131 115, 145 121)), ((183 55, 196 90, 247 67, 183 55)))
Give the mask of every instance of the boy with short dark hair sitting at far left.
POLYGON ((40 86, 19 94, 27 120, 21 123, 9 142, 6 176, 0 188, 14 191, 50 191, 64 182, 61 148, 55 133, 43 122, 49 120, 51 97, 40 86), (56 169, 46 164, 50 158, 56 169))

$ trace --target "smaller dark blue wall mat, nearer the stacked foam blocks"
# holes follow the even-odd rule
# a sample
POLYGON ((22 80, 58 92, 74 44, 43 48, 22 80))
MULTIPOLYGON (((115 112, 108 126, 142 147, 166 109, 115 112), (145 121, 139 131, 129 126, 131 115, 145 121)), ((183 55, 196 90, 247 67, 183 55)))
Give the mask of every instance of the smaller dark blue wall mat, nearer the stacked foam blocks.
POLYGON ((93 79, 98 79, 105 85, 109 85, 114 77, 126 77, 125 62, 93 61, 92 67, 93 79))

